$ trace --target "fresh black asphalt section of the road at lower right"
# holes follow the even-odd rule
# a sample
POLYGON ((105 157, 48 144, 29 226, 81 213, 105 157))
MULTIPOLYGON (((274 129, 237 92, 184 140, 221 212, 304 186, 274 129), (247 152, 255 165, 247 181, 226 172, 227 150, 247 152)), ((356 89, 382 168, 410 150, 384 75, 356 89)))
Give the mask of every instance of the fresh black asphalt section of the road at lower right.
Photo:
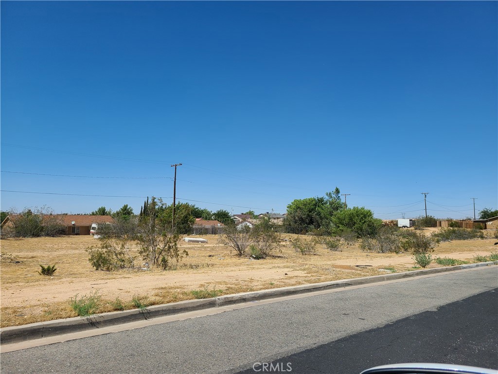
MULTIPOLYGON (((497 348, 498 288, 278 358, 266 373, 358 374, 379 365, 420 362, 498 369, 497 348)), ((239 374, 262 372, 262 365, 239 374)))

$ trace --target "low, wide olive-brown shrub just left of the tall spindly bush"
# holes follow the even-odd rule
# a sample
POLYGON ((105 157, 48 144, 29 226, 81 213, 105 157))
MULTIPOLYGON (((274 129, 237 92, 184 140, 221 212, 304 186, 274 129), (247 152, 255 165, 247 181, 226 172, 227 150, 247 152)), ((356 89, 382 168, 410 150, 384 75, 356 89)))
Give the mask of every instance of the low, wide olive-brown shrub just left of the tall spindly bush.
POLYGON ((88 261, 95 270, 114 271, 132 268, 134 264, 133 257, 129 254, 124 241, 105 239, 98 247, 92 245, 86 251, 90 255, 88 261))

